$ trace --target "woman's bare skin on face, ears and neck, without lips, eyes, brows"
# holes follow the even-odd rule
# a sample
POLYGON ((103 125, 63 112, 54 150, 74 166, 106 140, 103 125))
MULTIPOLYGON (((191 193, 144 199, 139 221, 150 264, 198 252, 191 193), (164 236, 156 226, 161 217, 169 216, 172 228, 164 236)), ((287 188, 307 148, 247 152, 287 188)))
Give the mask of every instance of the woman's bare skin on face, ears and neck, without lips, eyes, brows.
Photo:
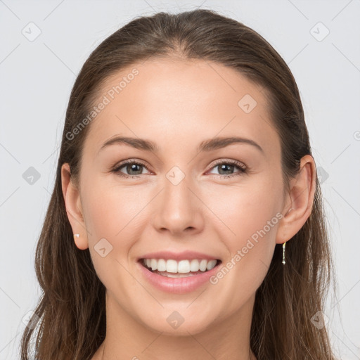
MULTIPOLYGON (((134 67, 110 77, 99 99, 134 67)), ((314 159, 302 158, 284 196, 280 139, 264 89, 204 60, 150 59, 136 69, 139 75, 88 125, 79 188, 68 164, 62 167, 76 245, 89 248, 106 288, 106 338, 92 359, 255 359, 249 340, 255 291, 276 243, 292 238, 311 213, 314 159), (238 106, 245 94, 257 101, 250 113, 238 106), (117 134, 154 141, 159 152, 119 144, 99 151, 117 134), (264 153, 245 143, 197 153, 214 136, 252 139, 264 153), (111 172, 127 159, 146 164, 132 173, 122 167, 137 178, 111 172), (226 179, 239 169, 222 171, 214 165, 219 159, 237 160, 248 173, 226 179), (166 177, 174 166, 185 175, 176 186, 166 177), (136 267, 138 257, 158 250, 205 252, 226 264, 277 213, 282 219, 217 284, 171 295, 153 288, 136 267), (94 250, 101 238, 113 246, 105 257, 94 250), (173 311, 184 318, 176 329, 167 323, 173 311)))

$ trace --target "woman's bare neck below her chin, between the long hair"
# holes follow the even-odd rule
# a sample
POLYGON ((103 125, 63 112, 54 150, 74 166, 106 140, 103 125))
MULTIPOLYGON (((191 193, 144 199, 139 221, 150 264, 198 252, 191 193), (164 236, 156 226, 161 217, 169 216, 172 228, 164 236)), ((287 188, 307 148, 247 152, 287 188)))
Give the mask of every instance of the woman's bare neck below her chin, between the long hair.
MULTIPOLYGON (((250 350, 250 326, 255 297, 229 319, 213 321, 200 333, 174 336, 155 332, 129 316, 106 295, 106 338, 93 360, 233 359, 256 360, 250 350)), ((185 325, 185 323, 183 324, 185 325)))

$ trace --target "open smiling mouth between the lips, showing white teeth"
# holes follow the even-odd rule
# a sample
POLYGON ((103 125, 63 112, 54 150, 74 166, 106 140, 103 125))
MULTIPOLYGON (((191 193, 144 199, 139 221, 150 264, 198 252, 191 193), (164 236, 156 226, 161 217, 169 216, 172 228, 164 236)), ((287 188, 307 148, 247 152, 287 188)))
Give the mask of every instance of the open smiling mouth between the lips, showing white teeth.
POLYGON ((141 258, 139 259, 145 269, 153 274, 165 276, 167 278, 187 278, 204 274, 211 271, 221 264, 219 259, 156 259, 141 258))

